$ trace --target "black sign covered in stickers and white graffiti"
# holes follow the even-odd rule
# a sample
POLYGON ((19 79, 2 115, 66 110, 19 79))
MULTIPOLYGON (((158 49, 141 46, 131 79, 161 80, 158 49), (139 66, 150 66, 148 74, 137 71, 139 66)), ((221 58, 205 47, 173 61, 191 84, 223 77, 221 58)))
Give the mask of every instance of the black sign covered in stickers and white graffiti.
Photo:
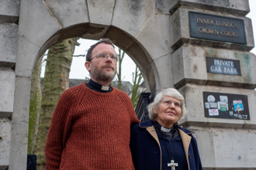
POLYGON ((202 93, 205 117, 250 120, 247 95, 202 93))

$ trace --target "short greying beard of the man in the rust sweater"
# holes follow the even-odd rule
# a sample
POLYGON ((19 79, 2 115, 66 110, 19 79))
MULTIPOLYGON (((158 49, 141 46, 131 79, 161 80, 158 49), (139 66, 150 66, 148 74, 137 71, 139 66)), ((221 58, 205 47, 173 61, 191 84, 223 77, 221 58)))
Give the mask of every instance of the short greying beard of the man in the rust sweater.
POLYGON ((94 67, 93 70, 91 71, 91 76, 95 78, 95 80, 100 80, 100 81, 112 81, 114 77, 116 76, 116 70, 112 71, 110 73, 106 73, 104 70, 99 70, 98 67, 94 67))

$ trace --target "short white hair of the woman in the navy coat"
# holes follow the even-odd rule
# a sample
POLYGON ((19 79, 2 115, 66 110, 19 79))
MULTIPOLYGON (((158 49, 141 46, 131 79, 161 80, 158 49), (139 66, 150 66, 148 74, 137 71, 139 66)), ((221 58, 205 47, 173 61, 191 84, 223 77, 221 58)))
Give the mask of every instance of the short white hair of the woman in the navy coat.
POLYGON ((159 107, 159 104, 164 96, 174 97, 175 99, 180 100, 182 103, 182 115, 180 118, 185 117, 187 110, 186 110, 185 104, 184 104, 184 97, 182 96, 181 93, 178 92, 178 90, 176 90, 174 88, 168 88, 168 89, 162 90, 160 93, 157 93, 157 96, 154 97, 154 101, 147 106, 150 120, 156 121, 157 114, 154 113, 154 110, 157 110, 157 108, 159 107))

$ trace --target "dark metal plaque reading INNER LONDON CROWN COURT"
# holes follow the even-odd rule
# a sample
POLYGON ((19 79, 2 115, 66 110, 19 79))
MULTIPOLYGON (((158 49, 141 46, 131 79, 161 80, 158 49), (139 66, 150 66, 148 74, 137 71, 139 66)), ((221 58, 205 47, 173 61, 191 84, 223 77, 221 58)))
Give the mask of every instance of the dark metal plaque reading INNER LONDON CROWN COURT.
POLYGON ((190 37, 246 45, 244 20, 189 12, 190 37))

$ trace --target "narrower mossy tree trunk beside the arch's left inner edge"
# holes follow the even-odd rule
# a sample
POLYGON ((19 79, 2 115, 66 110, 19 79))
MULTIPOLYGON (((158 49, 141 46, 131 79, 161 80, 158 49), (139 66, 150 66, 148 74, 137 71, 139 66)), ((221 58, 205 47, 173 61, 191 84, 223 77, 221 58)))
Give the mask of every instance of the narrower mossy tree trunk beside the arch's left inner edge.
POLYGON ((29 104, 29 139, 28 139, 28 154, 33 154, 36 144, 36 134, 38 131, 39 115, 41 109, 41 88, 40 88, 40 74, 41 63, 43 55, 38 59, 36 66, 34 66, 31 75, 31 90, 30 90, 30 104, 29 104))

